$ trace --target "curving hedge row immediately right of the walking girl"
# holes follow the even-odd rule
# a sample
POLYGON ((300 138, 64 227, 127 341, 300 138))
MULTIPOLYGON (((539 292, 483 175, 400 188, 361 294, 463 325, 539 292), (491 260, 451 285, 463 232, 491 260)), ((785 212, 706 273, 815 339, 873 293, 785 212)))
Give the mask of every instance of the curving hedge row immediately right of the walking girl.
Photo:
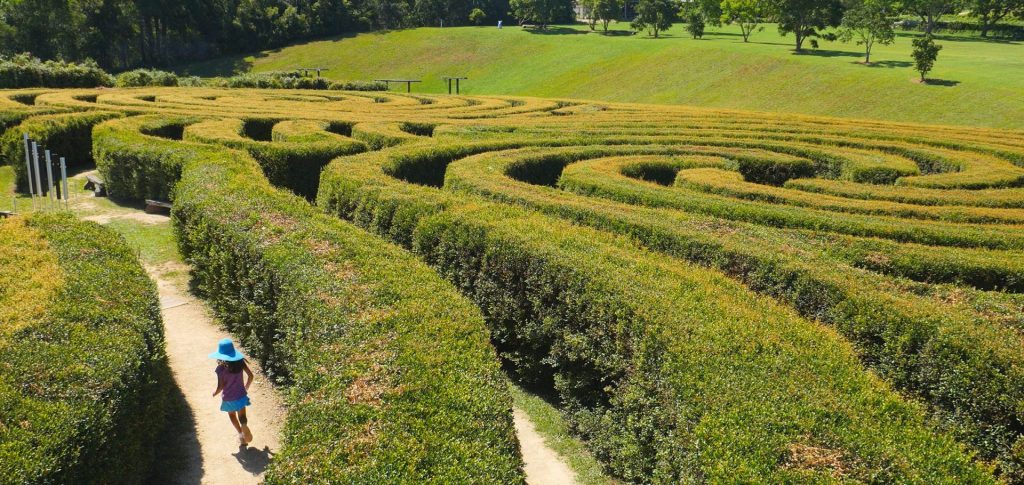
POLYGON ((291 384, 269 483, 522 483, 478 310, 398 248, 272 188, 245 152, 139 133, 158 123, 98 127, 99 164, 180 170, 172 216, 197 288, 291 384))

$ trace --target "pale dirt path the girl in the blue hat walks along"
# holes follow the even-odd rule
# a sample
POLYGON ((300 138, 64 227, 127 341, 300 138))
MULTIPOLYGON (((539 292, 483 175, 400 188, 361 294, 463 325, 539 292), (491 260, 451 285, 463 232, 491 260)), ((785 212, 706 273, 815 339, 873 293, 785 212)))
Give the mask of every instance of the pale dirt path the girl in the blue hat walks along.
MULTIPOLYGON (((167 234, 170 231, 167 216, 145 214, 106 201, 84 199, 76 212, 88 213, 82 219, 100 224, 117 221, 167 234)), ((188 293, 185 277, 188 267, 178 262, 176 249, 162 247, 160 250, 173 254, 173 260, 151 261, 145 269, 159 290, 167 356, 176 389, 172 397, 175 409, 170 416, 167 436, 160 443, 163 462, 156 467, 150 481, 216 485, 260 483, 280 446, 285 420, 281 396, 259 365, 250 361, 256 374, 249 389, 253 404, 247 410, 253 441, 242 446, 227 413, 220 410, 220 396, 212 396, 217 386, 216 362, 207 358, 218 340, 231 336, 217 325, 210 308, 188 293)))

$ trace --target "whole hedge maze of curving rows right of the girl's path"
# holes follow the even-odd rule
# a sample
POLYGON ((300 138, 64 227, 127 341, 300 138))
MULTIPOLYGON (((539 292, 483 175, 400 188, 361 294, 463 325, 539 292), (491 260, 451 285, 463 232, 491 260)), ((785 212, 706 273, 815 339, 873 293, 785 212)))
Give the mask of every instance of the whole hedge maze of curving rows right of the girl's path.
POLYGON ((198 288, 292 390, 271 482, 521 481, 501 365, 630 482, 1024 482, 1024 131, 4 96, 4 140, 86 124, 70 155, 113 196, 173 202, 198 288))

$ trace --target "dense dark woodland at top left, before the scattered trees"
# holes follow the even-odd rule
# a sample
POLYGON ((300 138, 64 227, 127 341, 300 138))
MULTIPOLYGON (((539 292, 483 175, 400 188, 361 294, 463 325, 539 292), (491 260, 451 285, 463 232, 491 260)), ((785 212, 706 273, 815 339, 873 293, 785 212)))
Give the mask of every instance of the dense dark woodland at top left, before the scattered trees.
POLYGON ((508 0, 0 0, 0 55, 120 71, 350 32, 497 21, 507 11, 508 0))

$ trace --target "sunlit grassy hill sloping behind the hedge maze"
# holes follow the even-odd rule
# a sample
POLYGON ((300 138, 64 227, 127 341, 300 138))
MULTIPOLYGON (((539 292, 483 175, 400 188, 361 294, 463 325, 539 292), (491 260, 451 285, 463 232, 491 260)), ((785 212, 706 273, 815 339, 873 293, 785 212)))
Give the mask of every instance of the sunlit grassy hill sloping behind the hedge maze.
MULTIPOLYGON (((921 85, 912 34, 879 46, 867 67, 855 44, 821 41, 796 54, 793 37, 765 26, 744 44, 738 30, 703 40, 677 26, 666 38, 589 33, 585 26, 414 29, 359 34, 188 65, 201 76, 325 67, 341 80, 422 79, 414 92, 443 92, 442 76, 468 76, 463 93, 683 103, 924 123, 1024 127, 1024 45, 939 36, 943 49, 921 85)), ((403 87, 402 87, 403 89, 403 87)))

